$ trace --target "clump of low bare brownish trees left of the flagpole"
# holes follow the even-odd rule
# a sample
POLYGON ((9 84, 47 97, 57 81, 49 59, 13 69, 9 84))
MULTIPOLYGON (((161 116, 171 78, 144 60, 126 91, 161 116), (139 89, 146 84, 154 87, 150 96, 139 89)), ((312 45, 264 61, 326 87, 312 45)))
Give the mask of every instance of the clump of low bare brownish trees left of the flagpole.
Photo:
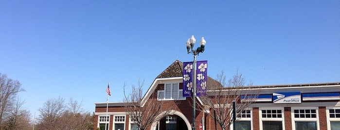
POLYGON ((93 116, 85 112, 82 102, 70 98, 65 105, 63 98, 49 99, 39 108, 37 130, 87 130, 93 128, 93 116))

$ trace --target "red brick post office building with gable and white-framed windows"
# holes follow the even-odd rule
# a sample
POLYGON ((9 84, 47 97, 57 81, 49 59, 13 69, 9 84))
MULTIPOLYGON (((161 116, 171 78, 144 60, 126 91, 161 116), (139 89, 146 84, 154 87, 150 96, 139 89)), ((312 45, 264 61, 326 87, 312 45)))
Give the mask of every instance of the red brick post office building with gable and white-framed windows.
MULTIPOLYGON (((192 99, 182 97, 182 71, 183 63, 176 60, 156 77, 147 90, 143 101, 147 102, 151 94, 157 94, 158 101, 165 102, 162 109, 172 108, 174 112, 153 123, 148 130, 192 129, 192 99), (175 100, 180 103, 174 103, 175 100)), ((208 87, 214 87, 212 84, 215 83, 208 77, 208 87)), ((242 111, 245 116, 236 119, 236 125, 242 124, 242 127, 237 127, 241 130, 340 130, 340 82, 253 86, 248 90, 258 96, 249 108, 242 111)), ((196 101, 204 106, 200 97, 196 101)), ((106 120, 107 103, 95 103, 94 130, 106 123, 107 130, 137 130, 124 106, 123 102, 108 103, 106 120)), ((211 114, 214 113, 196 111, 197 130, 200 124, 203 130, 215 130, 211 114)), ((218 124, 217 130, 221 130, 218 124)))

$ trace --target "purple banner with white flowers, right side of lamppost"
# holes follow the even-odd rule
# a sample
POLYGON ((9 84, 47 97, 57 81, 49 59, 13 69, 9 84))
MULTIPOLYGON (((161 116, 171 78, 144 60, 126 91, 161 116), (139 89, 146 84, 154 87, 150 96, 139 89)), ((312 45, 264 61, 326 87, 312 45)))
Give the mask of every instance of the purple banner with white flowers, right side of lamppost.
POLYGON ((208 61, 197 61, 196 69, 196 96, 207 95, 207 79, 208 79, 208 61))

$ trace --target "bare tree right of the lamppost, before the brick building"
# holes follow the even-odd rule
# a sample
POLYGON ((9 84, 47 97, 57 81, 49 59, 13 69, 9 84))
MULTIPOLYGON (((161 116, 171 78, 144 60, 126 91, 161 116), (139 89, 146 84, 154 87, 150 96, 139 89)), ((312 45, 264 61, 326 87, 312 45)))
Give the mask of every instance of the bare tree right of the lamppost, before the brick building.
MULTIPOLYGON (((202 97, 203 102, 207 104, 210 110, 216 113, 216 122, 219 124, 222 130, 229 130, 231 124, 233 123, 232 113, 233 105, 232 102, 236 102, 235 111, 240 114, 247 107, 249 107, 254 101, 255 97, 258 96, 258 92, 248 90, 252 83, 245 86, 247 79, 236 71, 232 79, 226 81, 224 72, 217 75, 215 83, 210 84, 206 97, 202 97), (241 96, 244 100, 241 101, 241 96), (247 98, 247 99, 245 99, 247 98)), ((206 108, 201 108, 201 110, 207 110, 206 108)), ((210 114, 213 118, 214 114, 210 114)))

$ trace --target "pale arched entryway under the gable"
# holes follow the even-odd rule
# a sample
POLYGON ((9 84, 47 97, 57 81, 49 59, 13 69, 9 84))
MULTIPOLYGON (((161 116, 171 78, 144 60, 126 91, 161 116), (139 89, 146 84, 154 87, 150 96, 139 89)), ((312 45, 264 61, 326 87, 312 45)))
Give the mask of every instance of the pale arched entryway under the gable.
POLYGON ((173 110, 171 115, 153 123, 151 130, 191 130, 191 126, 184 114, 173 110))

